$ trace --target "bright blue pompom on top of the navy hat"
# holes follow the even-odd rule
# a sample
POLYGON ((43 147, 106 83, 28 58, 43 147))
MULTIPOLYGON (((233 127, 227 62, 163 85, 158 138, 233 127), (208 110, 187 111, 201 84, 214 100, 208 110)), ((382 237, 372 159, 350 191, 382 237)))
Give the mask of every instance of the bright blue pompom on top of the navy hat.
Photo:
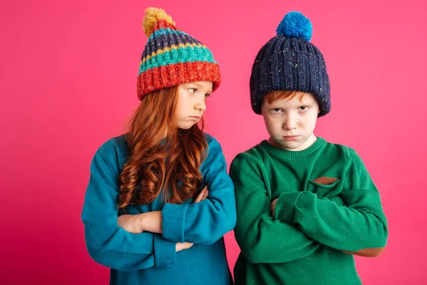
POLYGON ((310 41, 313 28, 309 19, 300 12, 293 11, 285 15, 276 31, 278 35, 288 38, 305 38, 310 41))

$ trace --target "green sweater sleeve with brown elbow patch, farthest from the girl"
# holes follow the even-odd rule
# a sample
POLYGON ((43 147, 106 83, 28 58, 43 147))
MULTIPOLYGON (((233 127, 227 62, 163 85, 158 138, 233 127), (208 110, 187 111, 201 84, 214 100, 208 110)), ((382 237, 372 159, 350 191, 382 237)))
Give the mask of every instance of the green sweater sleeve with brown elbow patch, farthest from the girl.
POLYGON ((340 197, 344 206, 319 198, 312 192, 284 192, 275 218, 297 224, 312 239, 348 253, 376 257, 386 246, 388 229, 381 199, 374 182, 354 150, 340 197))

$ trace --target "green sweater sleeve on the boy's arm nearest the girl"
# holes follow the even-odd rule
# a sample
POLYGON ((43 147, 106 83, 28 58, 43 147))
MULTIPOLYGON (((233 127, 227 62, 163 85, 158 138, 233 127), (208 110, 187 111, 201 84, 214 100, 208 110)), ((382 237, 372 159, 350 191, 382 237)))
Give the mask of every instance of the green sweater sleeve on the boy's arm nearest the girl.
MULTIPOLYGON (((270 197, 260 172, 237 156, 230 168, 236 187, 236 241, 251 263, 283 263, 307 257, 320 247, 295 224, 270 217, 270 197)), ((295 195, 295 193, 291 193, 295 195)))

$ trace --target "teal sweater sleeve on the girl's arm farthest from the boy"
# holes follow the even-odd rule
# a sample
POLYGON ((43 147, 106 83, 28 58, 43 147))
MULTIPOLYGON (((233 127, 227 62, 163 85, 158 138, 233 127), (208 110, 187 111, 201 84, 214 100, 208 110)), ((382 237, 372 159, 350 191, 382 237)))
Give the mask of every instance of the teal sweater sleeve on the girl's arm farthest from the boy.
POLYGON ((90 257, 120 271, 175 264, 176 243, 150 232, 131 234, 118 226, 118 168, 115 147, 106 142, 90 166, 90 181, 83 205, 82 220, 90 257))

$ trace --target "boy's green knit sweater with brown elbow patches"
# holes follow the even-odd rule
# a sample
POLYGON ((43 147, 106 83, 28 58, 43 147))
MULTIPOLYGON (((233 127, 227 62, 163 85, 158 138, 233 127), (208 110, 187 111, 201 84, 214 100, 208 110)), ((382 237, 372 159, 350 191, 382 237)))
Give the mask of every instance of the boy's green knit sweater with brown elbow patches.
POLYGON ((230 169, 238 284, 361 284, 352 254, 381 254, 387 222, 357 153, 322 138, 302 151, 263 141, 230 169), (278 198, 275 217, 270 203, 278 198))

